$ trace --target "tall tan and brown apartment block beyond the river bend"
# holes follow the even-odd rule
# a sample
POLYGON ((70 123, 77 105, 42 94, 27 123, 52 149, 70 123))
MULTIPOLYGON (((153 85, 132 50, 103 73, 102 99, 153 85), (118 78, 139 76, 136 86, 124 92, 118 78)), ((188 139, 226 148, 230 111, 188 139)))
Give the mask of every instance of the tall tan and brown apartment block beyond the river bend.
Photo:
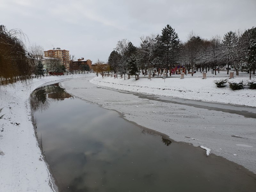
POLYGON ((48 51, 44 51, 44 57, 54 57, 60 59, 62 64, 69 69, 69 51, 60 48, 53 48, 48 51))

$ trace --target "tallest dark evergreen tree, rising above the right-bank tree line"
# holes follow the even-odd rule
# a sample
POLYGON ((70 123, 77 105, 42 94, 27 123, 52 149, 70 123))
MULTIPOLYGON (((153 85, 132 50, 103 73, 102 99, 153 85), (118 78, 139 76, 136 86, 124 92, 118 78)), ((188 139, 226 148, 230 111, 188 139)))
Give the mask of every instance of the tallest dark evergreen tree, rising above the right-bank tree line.
MULTIPOLYGON (((158 52, 165 68, 176 64, 179 55, 180 39, 174 29, 167 25, 162 29, 162 35, 157 37, 158 52)), ((171 73, 170 73, 171 74, 171 73)))

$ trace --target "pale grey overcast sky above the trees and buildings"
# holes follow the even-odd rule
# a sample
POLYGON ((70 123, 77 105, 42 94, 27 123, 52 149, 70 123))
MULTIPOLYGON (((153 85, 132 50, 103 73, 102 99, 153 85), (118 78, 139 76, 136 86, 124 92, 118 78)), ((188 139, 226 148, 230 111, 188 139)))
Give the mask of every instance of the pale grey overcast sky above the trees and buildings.
POLYGON ((170 24, 185 41, 256 27, 256 0, 1 0, 0 24, 20 28, 45 50, 69 50, 76 58, 107 61, 118 40, 134 45, 170 24))

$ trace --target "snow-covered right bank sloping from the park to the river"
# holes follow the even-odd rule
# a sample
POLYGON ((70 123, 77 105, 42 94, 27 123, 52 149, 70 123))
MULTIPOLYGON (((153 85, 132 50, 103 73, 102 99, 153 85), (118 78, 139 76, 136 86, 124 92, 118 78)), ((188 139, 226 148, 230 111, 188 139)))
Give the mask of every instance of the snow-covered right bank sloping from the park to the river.
MULTIPOLYGON (((98 76, 94 77, 90 82, 100 86, 106 86, 113 89, 119 89, 131 92, 140 92, 160 96, 176 97, 190 100, 202 100, 210 102, 220 102, 236 105, 246 105, 256 107, 256 91, 245 86, 242 90, 232 91, 228 83, 226 87, 218 88, 214 84, 214 80, 228 78, 227 71, 220 71, 218 76, 207 73, 208 77, 202 79, 202 74, 196 73, 192 77, 191 74, 185 75, 184 79, 180 79, 180 75, 168 77, 165 80, 162 78, 143 78, 140 76, 139 80, 134 77, 127 79, 98 76)), ((252 76, 254 78, 255 76, 252 76)), ((240 72, 240 76, 235 76, 230 81, 244 82, 249 80, 249 76, 245 72, 240 72)))

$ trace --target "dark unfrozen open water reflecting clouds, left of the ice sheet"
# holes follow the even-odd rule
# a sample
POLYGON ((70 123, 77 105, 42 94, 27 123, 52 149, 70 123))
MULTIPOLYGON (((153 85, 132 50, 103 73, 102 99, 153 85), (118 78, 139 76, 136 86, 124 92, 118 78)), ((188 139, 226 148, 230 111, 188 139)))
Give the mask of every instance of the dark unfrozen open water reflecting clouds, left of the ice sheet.
MULTIPOLYGON (((34 116, 60 191, 255 191, 256 177, 243 167, 206 158, 204 150, 165 139, 115 111, 67 99, 54 86, 45 89, 50 104, 36 107, 34 116), (53 92, 61 102, 49 97, 53 92)), ((34 100, 45 105, 36 92, 34 100)))

